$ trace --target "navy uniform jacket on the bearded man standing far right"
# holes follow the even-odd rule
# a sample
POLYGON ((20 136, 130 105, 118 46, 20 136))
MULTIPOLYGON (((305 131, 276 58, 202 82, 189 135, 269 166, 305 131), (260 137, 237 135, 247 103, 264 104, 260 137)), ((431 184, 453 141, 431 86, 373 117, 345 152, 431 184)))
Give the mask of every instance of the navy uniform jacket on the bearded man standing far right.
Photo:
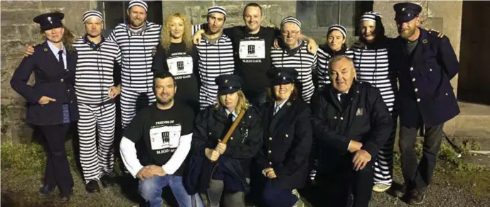
POLYGON ((398 71, 400 124, 405 127, 439 125, 459 114, 449 80, 459 71, 459 62, 449 38, 420 28, 412 55, 405 53, 403 38, 393 40, 390 67, 398 71))

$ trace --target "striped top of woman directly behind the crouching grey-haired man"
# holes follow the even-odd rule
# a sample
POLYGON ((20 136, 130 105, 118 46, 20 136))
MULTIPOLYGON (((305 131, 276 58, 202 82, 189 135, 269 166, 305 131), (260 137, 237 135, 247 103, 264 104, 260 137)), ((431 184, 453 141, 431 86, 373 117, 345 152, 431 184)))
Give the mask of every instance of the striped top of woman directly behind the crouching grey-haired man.
MULTIPOLYGON (((323 88, 326 84, 330 83, 329 77, 329 61, 332 58, 331 53, 326 51, 325 47, 318 47, 316 55, 318 55, 318 67, 315 71, 316 77, 318 77, 318 87, 323 88)), ((346 49, 345 51, 339 51, 335 55, 347 55, 348 57, 353 58, 352 50, 346 49)))

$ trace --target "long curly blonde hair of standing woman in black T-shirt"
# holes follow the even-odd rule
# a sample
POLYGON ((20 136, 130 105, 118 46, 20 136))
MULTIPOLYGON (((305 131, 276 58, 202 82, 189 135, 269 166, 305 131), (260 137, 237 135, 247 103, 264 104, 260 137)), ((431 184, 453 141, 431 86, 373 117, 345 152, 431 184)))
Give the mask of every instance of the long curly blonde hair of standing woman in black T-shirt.
POLYGON ((192 43, 192 33, 191 33, 191 22, 186 15, 182 13, 173 13, 166 17, 164 26, 161 28, 161 38, 160 44, 164 50, 168 51, 170 47, 170 25, 172 18, 181 18, 183 21, 183 34, 182 41, 186 44, 187 51, 191 51, 193 47, 192 43))

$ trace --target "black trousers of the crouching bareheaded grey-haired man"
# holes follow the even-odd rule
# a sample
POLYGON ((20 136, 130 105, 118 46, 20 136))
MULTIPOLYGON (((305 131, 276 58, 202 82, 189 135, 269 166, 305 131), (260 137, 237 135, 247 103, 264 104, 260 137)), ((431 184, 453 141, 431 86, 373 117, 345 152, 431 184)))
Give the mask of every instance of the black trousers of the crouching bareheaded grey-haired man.
MULTIPOLYGON (((317 186, 310 190, 314 206, 367 207, 373 191, 373 164, 376 155, 364 169, 353 170, 353 154, 331 160, 316 174, 317 186)), ((306 196, 308 201, 310 199, 306 196)))

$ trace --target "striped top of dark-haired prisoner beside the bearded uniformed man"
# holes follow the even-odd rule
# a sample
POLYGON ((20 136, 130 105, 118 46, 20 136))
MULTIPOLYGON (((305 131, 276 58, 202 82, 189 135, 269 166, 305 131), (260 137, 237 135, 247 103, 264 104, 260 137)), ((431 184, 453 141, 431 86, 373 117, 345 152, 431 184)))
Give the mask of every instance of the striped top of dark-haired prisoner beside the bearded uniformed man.
POLYGON ((351 47, 358 81, 369 82, 378 88, 388 110, 393 111, 398 86, 396 72, 389 69, 388 49, 388 44, 370 48, 355 43, 351 47))

